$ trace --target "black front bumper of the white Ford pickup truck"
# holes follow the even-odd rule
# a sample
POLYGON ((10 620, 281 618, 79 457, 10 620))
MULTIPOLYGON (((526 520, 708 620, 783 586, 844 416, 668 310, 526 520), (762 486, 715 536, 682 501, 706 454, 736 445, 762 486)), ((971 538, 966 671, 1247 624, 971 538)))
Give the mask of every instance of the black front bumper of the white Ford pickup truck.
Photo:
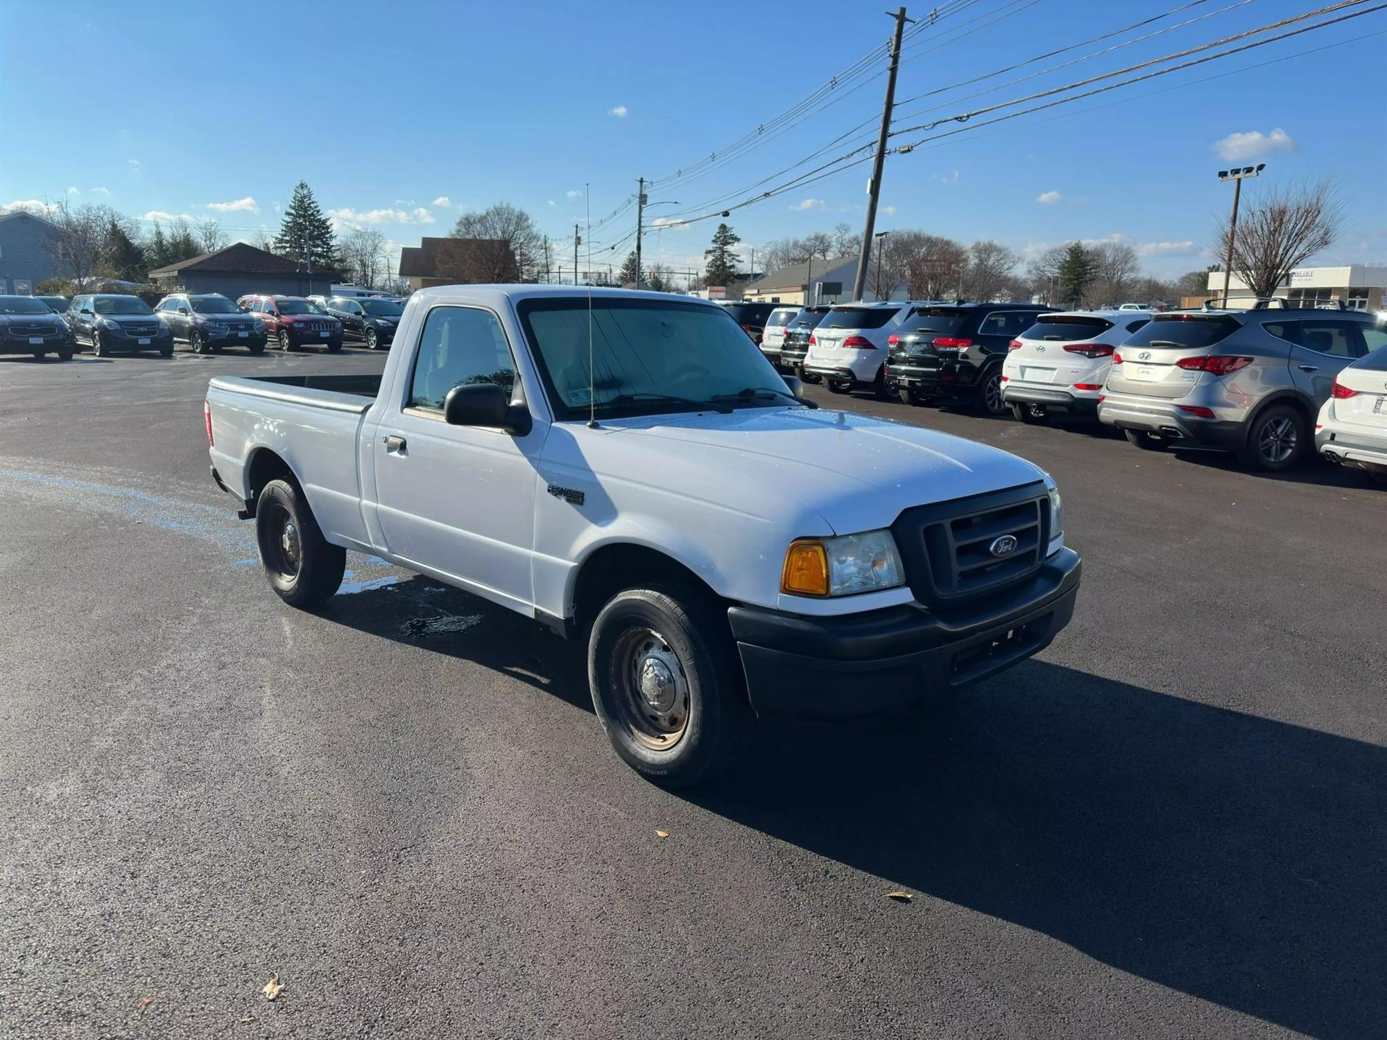
POLYGON ((1039 653, 1074 617, 1079 555, 1060 549, 1021 587, 982 603, 806 617, 728 609, 760 716, 845 718, 907 707, 1039 653))

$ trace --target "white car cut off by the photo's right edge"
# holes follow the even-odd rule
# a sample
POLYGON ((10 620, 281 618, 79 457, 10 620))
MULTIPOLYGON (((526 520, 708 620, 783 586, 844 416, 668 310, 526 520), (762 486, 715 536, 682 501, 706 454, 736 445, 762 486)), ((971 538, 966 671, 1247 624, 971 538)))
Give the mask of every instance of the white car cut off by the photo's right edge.
POLYGON ((1334 379, 1315 420, 1315 448, 1387 488, 1387 327, 1369 326, 1363 334, 1381 345, 1334 379))

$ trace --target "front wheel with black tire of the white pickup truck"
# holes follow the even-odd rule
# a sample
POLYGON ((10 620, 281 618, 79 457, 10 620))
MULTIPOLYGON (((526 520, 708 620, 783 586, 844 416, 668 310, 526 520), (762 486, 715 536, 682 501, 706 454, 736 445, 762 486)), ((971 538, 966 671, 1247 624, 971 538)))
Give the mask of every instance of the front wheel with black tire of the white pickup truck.
POLYGON ((649 781, 691 786, 717 777, 746 740, 752 711, 727 616, 700 589, 617 592, 592 623, 588 685, 608 739, 649 781), (642 696, 642 663, 663 704, 642 696))

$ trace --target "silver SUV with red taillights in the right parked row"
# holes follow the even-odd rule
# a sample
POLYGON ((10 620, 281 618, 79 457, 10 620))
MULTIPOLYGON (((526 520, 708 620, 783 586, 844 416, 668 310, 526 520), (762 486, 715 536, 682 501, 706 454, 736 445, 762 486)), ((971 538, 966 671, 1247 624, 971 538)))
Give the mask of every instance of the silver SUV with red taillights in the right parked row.
POLYGON ((1155 315, 1117 354, 1099 419, 1148 451, 1223 448, 1266 473, 1312 449, 1334 376, 1368 354, 1355 311, 1258 308, 1155 315))

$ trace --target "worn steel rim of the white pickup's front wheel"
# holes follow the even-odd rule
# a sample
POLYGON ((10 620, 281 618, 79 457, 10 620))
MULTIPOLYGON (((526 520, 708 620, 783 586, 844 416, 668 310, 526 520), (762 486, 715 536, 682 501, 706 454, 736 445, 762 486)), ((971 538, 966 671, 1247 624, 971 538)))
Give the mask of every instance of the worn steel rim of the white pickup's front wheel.
POLYGON ((613 649, 620 722, 642 747, 667 752, 688 732, 689 682, 669 639, 645 625, 626 630, 613 649))

